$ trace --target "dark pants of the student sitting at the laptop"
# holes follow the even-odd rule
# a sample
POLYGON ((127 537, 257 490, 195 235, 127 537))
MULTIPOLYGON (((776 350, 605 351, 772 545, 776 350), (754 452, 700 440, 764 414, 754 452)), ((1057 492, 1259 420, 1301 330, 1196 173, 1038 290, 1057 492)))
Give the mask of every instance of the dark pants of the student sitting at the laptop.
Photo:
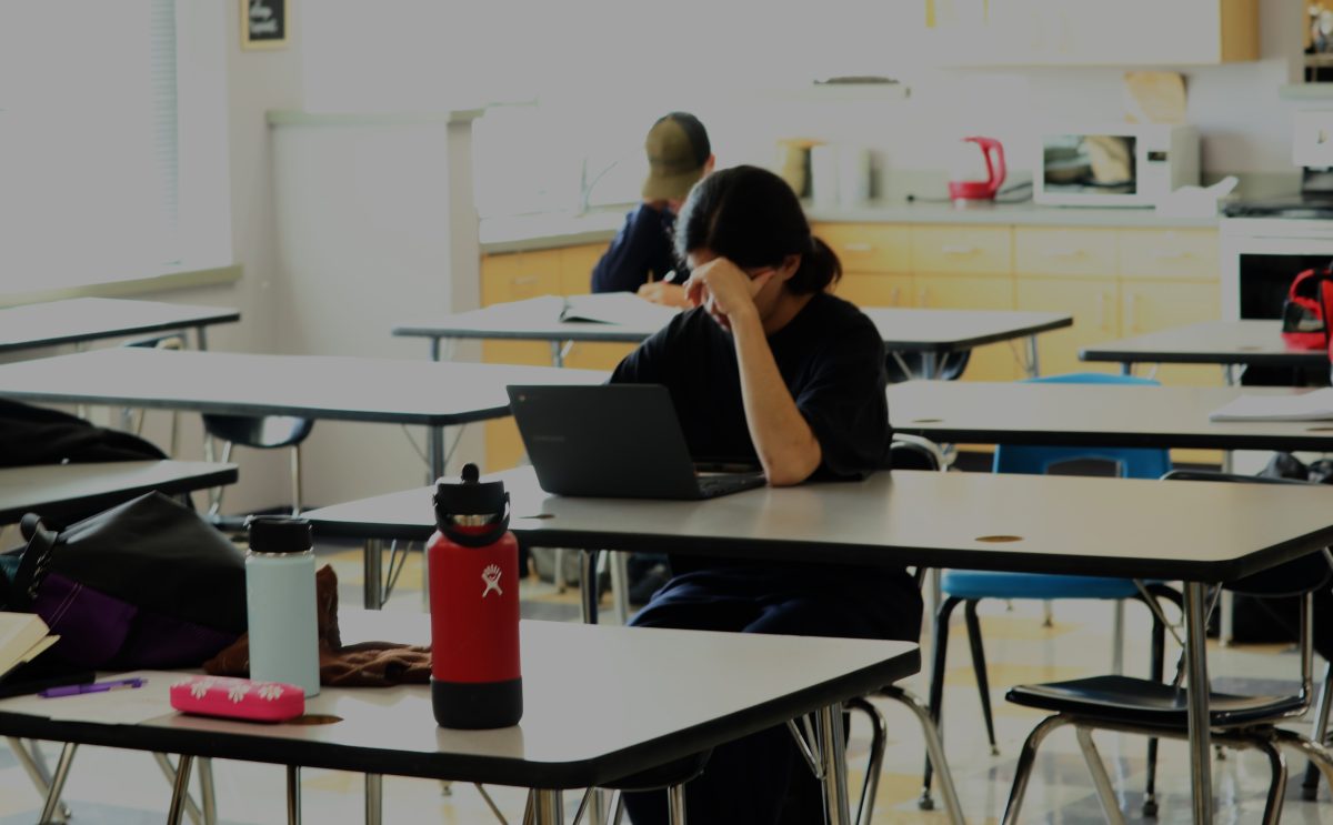
MULTIPOLYGON (((713 568, 672 578, 632 625, 686 630, 785 633, 916 641, 921 594, 901 570, 832 565, 713 568)), ((724 668, 726 662, 684 666, 724 668)), ((792 662, 800 668, 801 662, 792 662)), ((652 713, 645 708, 645 713, 652 713)), ((785 725, 713 750, 702 776, 685 785, 692 822, 774 825, 822 821, 820 784, 785 725)), ((625 794, 635 825, 666 822, 666 794, 625 794)))

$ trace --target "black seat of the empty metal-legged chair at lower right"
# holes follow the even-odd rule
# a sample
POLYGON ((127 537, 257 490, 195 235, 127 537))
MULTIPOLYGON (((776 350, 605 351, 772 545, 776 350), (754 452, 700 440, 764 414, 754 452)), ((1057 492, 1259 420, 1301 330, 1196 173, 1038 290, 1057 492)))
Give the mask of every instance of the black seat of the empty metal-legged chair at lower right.
MULTIPOLYGON (((1066 682, 1018 685, 1005 698, 1016 705, 1089 720, 1185 729, 1186 696, 1184 688, 1177 690, 1145 678, 1093 676, 1066 682)), ((1216 692, 1209 693, 1208 702, 1213 728, 1272 722, 1288 713, 1300 714, 1306 705, 1300 694, 1234 696, 1216 692)))

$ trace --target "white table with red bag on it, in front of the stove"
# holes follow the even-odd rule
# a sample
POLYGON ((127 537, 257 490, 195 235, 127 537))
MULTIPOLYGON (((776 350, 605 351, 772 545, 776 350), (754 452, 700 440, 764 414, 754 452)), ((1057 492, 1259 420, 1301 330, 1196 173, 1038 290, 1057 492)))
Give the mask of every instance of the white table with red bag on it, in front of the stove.
POLYGON ((1078 357, 1117 361, 1125 375, 1134 364, 1218 364, 1228 384, 1237 381, 1236 367, 1328 368, 1325 351, 1289 347, 1281 333, 1281 321, 1204 321, 1084 347, 1078 357))

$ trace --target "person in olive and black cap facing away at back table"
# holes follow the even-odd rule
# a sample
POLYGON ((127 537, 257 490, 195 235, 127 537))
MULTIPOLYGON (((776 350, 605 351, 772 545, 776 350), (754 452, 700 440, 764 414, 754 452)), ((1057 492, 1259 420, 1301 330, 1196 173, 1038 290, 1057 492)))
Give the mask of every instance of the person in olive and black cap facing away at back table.
POLYGON ((713 169, 708 132, 688 112, 657 119, 644 141, 648 177, 644 200, 625 219, 625 225, 592 271, 593 292, 637 292, 657 304, 685 305, 676 271, 670 233, 676 213, 690 187, 713 169))

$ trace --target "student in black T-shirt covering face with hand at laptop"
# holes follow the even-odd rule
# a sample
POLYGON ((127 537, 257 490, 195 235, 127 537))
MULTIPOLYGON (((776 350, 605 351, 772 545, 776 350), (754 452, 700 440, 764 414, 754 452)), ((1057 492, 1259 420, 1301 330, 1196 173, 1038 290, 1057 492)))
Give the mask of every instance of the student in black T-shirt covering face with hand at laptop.
MULTIPOLYGON (((666 385, 692 454, 757 462, 773 486, 882 466, 884 344, 826 292, 841 267, 790 187, 756 167, 709 175, 684 204, 676 252, 694 309, 627 356, 612 381, 666 385)), ((676 556, 672 568, 632 624, 918 638, 921 597, 900 568, 698 556, 676 556)), ((685 793, 694 822, 822 821, 818 785, 785 726, 718 748, 685 793)), ((661 792, 627 794, 627 808, 635 825, 666 821, 661 792)))

